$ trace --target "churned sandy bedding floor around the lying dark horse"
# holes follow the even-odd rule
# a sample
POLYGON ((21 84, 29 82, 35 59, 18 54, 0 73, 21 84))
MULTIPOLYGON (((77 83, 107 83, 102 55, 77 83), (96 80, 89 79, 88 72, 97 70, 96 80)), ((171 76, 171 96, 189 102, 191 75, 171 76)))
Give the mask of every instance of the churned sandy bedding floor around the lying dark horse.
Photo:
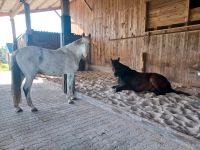
MULTIPOLYGON (((46 78, 62 84, 60 77, 46 78)), ((77 91, 200 139, 200 89, 173 84, 174 88, 192 96, 175 93, 156 96, 133 91, 115 93, 111 88, 115 84, 116 78, 111 73, 87 71, 76 75, 77 91)))

